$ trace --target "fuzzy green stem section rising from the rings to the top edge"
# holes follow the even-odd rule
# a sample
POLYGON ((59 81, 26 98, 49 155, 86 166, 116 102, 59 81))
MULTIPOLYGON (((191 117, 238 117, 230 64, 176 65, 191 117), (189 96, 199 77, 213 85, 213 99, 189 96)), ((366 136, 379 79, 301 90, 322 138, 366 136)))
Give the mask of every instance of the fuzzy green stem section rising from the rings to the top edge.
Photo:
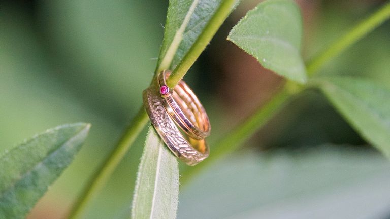
POLYGON ((199 35, 197 41, 192 45, 187 54, 185 54, 183 60, 176 66, 172 71, 172 74, 167 79, 167 85, 170 88, 174 88, 177 83, 184 77, 188 69, 193 65, 193 63, 198 59, 203 50, 209 44, 219 27, 222 25, 223 21, 226 20, 226 17, 232 11, 237 0, 225 0, 221 3, 213 17, 210 19, 209 23, 206 25, 203 32, 199 35))

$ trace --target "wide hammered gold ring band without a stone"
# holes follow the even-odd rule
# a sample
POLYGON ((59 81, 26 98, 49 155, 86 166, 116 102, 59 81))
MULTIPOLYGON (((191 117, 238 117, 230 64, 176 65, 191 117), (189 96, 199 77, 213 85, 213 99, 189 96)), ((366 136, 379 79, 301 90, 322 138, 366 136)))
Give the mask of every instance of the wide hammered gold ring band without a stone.
POLYGON ((188 138, 187 140, 182 135, 163 105, 165 100, 154 87, 144 90, 143 101, 157 133, 180 160, 193 166, 209 156, 209 149, 204 139, 188 138))

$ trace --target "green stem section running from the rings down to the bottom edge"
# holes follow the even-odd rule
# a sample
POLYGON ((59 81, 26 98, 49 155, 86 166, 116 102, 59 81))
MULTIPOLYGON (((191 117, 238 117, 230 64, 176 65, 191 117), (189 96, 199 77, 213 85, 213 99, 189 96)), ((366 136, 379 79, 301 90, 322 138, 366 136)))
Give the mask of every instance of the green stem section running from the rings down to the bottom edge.
POLYGON ((112 172, 123 159, 129 147, 136 140, 148 121, 149 117, 146 114, 144 107, 141 107, 137 115, 133 118, 131 124, 126 129, 117 146, 113 149, 111 154, 107 157, 106 161, 101 165, 98 171, 89 180, 87 184, 88 186, 85 187, 84 191, 76 201, 69 218, 80 218, 82 215, 84 215, 87 204, 106 184, 112 172))

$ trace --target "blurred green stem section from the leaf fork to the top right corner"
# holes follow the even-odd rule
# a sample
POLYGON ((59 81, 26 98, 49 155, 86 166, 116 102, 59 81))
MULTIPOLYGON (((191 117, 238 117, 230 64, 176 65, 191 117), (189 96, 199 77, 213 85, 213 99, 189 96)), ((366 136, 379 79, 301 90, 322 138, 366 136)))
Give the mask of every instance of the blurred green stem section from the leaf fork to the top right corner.
POLYGON ((309 62, 307 64, 308 75, 314 74, 314 72, 319 70, 325 63, 342 53, 349 46, 358 42, 388 18, 390 18, 390 2, 387 2, 378 11, 370 15, 370 17, 354 26, 341 39, 320 53, 313 61, 309 62))

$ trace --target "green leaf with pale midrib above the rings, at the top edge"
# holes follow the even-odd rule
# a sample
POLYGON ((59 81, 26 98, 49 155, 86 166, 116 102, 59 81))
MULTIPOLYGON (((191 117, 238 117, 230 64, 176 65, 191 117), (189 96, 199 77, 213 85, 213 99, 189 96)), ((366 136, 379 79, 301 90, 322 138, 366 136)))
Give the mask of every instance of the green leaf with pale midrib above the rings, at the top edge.
POLYGON ((157 63, 158 70, 175 68, 222 2, 222 0, 169 1, 164 40, 157 63))

